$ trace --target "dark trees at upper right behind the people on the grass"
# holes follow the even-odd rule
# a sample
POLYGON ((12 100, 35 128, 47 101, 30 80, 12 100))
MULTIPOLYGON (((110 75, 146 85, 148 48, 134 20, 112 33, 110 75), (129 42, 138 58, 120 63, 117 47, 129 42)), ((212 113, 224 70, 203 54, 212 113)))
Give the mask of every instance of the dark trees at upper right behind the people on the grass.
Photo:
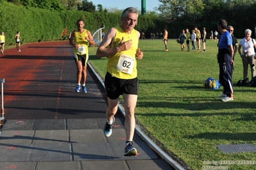
POLYGON ((210 31, 218 31, 219 19, 225 19, 234 27, 237 38, 244 37, 245 29, 252 30, 255 37, 256 1, 255 0, 159 0, 159 17, 175 23, 171 28, 172 36, 178 36, 182 29, 190 30, 197 26, 210 31), (175 29, 178 29, 175 31, 175 29))

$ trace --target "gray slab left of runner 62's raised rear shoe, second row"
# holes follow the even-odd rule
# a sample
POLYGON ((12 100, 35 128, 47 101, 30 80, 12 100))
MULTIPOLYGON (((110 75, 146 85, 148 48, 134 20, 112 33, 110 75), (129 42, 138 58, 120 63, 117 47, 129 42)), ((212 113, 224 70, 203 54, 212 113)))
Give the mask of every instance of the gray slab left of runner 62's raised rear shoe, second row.
POLYGON ((70 130, 72 143, 105 143, 106 139, 101 129, 70 130))

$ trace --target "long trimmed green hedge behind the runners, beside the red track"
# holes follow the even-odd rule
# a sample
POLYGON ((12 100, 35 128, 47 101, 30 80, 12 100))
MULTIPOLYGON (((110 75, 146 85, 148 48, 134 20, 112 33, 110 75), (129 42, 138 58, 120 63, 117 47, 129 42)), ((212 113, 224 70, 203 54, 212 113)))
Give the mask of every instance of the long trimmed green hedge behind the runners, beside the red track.
MULTIPOLYGON (((26 8, 13 3, 0 3, 0 32, 4 31, 6 45, 15 44, 14 36, 21 32, 21 43, 67 40, 67 35, 76 29, 76 20, 83 19, 85 28, 91 33, 105 25, 106 31, 120 23, 121 13, 50 11, 26 8), (67 35, 61 36, 67 29, 67 35)), ((151 32, 160 32, 170 24, 156 16, 140 15, 135 27, 149 38, 151 32)), ((172 29, 172 28, 171 28, 172 29)))

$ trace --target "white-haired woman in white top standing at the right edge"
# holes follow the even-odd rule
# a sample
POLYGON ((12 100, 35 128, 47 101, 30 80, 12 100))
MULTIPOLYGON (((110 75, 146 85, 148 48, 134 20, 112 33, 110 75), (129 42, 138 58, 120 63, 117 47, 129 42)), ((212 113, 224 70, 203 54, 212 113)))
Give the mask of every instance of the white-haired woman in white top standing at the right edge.
POLYGON ((238 47, 238 52, 243 61, 243 68, 244 68, 244 79, 246 79, 248 75, 248 65, 251 67, 252 71, 252 78, 256 75, 255 73, 255 52, 254 47, 256 47, 256 42, 251 38, 252 31, 250 29, 246 29, 244 31, 245 38, 243 38, 238 47), (243 47, 243 52, 241 52, 241 47, 243 47))

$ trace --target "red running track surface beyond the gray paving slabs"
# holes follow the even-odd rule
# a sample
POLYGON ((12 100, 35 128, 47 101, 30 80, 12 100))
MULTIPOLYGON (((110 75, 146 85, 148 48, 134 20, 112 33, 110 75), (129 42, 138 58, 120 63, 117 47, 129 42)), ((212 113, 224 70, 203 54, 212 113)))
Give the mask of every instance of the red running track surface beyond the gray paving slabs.
MULTIPOLYGON (((89 70, 89 69, 88 69, 89 70)), ((76 93, 76 65, 69 42, 28 43, 0 56, 6 120, 106 118, 103 89, 87 71, 88 93, 76 93)))

